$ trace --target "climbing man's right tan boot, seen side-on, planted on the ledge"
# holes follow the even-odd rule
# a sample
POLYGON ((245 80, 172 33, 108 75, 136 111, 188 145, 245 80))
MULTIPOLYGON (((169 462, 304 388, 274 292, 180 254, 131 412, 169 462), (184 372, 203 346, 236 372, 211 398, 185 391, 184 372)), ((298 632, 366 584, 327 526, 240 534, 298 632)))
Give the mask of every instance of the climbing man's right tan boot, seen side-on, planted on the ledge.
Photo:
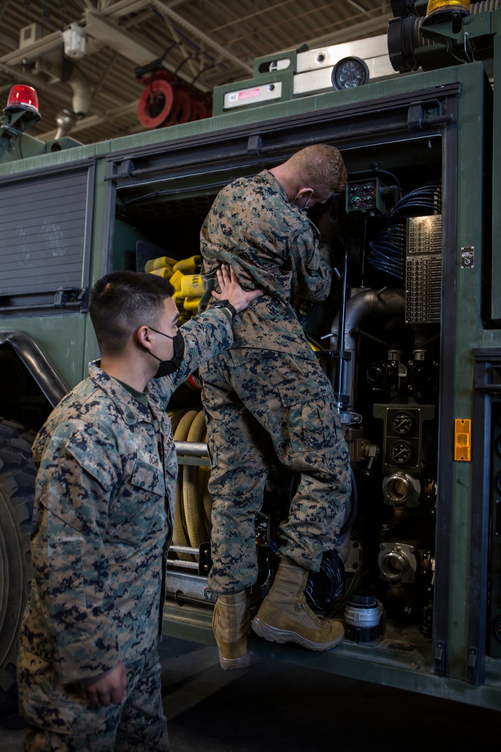
POLYGON ((308 570, 282 559, 270 593, 261 603, 252 629, 270 642, 297 642, 310 650, 330 650, 345 636, 343 624, 309 608, 304 596, 308 570))

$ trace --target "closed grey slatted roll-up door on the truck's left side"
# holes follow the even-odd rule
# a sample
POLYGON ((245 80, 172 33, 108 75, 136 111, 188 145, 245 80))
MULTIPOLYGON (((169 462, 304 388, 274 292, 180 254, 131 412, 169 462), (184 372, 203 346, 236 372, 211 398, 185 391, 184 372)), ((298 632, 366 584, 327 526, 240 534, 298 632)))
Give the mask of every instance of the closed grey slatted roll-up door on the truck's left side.
POLYGON ((0 186, 0 311, 85 310, 94 165, 0 186))

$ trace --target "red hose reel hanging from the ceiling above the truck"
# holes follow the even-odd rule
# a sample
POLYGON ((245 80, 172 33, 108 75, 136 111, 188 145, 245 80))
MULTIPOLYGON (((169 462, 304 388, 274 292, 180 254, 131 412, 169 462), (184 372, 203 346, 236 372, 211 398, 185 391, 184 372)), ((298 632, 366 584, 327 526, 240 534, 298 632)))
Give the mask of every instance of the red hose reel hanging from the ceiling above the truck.
POLYGON ((137 118, 145 128, 164 128, 212 113, 210 96, 169 71, 161 70, 140 79, 145 89, 137 105, 137 118))

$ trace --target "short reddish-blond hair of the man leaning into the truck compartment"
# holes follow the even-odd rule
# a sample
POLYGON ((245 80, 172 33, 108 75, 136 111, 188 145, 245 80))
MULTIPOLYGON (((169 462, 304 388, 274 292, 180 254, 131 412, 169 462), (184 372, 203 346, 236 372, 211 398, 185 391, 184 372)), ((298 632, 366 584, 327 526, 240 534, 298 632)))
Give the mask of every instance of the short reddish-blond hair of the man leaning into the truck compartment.
POLYGON ((297 185, 312 188, 314 196, 345 190, 348 173, 340 150, 335 146, 307 146, 293 154, 287 166, 297 185))

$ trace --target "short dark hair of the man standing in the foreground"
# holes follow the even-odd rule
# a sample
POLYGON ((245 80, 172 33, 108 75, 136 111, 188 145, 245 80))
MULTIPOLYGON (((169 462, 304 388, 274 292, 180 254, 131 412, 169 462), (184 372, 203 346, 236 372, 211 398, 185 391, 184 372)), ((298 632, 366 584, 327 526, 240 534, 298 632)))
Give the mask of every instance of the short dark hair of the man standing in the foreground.
POLYGON ((112 271, 101 277, 89 305, 101 353, 119 355, 140 326, 158 324, 164 300, 173 295, 171 283, 156 274, 112 271))

